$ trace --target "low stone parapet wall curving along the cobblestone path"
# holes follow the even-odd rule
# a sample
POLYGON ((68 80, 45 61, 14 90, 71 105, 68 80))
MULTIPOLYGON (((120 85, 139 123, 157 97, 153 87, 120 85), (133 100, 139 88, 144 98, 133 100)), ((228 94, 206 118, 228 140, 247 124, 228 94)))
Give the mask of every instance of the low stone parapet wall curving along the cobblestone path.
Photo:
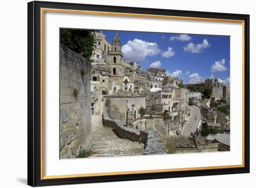
POLYGON ((159 139, 155 130, 142 129, 141 131, 128 127, 120 120, 110 119, 107 112, 103 112, 102 121, 104 126, 111 127, 119 138, 126 138, 134 142, 145 144, 142 155, 168 154, 165 145, 159 139))

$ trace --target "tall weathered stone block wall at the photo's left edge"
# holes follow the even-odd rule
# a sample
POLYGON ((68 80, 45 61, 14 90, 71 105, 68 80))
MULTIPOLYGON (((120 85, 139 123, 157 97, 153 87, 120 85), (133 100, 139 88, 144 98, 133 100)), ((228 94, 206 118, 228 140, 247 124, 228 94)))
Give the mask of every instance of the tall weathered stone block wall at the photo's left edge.
POLYGON ((60 158, 91 150, 90 63, 60 47, 60 158), (83 70, 83 71, 81 71, 83 70), (82 76, 81 72, 84 73, 82 76), (77 96, 74 95, 77 90, 77 96))

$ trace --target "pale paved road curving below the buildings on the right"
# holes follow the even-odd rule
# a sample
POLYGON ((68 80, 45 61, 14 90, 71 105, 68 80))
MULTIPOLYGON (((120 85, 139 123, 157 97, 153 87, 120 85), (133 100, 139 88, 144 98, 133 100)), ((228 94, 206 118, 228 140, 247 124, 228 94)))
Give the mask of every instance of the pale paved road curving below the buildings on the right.
POLYGON ((191 132, 195 132, 197 125, 199 123, 199 120, 201 119, 201 113, 199 107, 196 106, 190 106, 191 113, 190 116, 187 119, 187 122, 183 125, 183 129, 181 132, 181 135, 189 136, 191 132), (195 120, 196 116, 196 120, 195 120))

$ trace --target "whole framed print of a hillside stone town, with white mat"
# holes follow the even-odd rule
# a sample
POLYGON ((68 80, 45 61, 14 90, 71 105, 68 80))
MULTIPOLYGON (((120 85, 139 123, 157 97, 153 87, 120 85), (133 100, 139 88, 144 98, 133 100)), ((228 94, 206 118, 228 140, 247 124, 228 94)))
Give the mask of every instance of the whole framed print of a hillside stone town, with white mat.
POLYGON ((28 185, 249 173, 249 15, 28 3, 28 185))

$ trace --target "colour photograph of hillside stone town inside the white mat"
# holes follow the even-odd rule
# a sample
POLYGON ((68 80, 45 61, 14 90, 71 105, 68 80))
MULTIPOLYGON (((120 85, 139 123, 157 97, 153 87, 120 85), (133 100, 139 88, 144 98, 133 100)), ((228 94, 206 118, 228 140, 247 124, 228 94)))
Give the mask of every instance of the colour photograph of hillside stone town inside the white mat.
POLYGON ((230 36, 59 32, 60 159, 230 152, 230 36))

